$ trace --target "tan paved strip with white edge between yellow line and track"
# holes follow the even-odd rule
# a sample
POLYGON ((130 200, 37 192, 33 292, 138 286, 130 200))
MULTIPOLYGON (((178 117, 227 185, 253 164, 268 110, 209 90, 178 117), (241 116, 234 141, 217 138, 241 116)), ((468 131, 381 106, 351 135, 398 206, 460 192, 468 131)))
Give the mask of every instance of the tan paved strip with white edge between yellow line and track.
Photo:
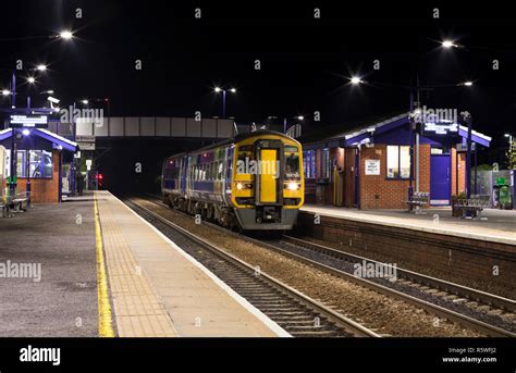
POLYGON ((287 335, 109 191, 96 200, 120 336, 287 335))

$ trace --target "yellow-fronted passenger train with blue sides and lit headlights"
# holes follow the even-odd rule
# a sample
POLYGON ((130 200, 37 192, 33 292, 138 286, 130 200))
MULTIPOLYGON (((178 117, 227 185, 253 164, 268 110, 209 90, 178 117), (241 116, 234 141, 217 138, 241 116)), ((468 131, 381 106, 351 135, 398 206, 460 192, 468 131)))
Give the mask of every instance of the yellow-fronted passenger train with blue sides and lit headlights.
POLYGON ((163 162, 163 202, 242 231, 287 231, 305 198, 302 145, 257 130, 163 162))

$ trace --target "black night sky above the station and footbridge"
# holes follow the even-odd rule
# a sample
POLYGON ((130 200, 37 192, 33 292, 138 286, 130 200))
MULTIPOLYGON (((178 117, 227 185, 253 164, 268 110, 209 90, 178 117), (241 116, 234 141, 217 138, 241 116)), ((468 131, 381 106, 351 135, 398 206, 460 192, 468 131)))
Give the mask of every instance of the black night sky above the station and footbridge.
MULTIPOLYGON (((516 23, 508 5, 282 3, 10 1, 2 3, 0 67, 11 69, 19 58, 49 63, 49 73, 32 91, 39 103, 44 96, 35 90, 50 88, 63 102, 109 97, 111 114, 120 116, 188 116, 196 110, 220 115, 221 98, 212 87, 235 86, 228 115, 237 122, 304 114, 310 125, 314 111, 320 111, 321 123, 312 123, 312 129, 408 109, 408 92, 396 86, 414 84, 417 74, 423 85, 474 79, 469 89, 426 94, 422 103, 467 109, 475 126, 496 139, 514 129, 516 23), (440 20, 432 18, 435 7, 440 20), (82 20, 75 18, 77 8, 82 20), (201 20, 194 18, 195 8, 201 9, 201 20), (320 8, 321 20, 314 20, 314 8, 320 8), (66 45, 7 40, 67 27, 76 38, 66 45), (442 50, 437 41, 443 37, 468 48, 442 50), (135 70, 136 59, 143 61, 142 71, 135 70), (257 59, 259 71, 254 69, 257 59), (376 59, 380 71, 372 70, 376 59), (494 59, 500 71, 491 67, 494 59), (370 84, 351 87, 345 77, 352 74, 370 84)), ((8 79, 2 71, 0 84, 7 86, 8 79)))

